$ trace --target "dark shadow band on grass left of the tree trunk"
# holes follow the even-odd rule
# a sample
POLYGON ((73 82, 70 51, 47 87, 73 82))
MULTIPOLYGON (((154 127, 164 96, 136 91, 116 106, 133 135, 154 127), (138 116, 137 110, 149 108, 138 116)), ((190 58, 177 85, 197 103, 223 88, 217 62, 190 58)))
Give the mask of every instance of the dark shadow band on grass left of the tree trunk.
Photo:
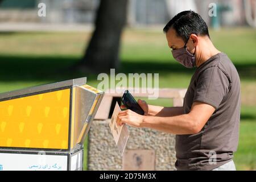
POLYGON ((65 57, 0 56, 0 81, 67 80, 82 77, 68 69, 77 61, 65 57))

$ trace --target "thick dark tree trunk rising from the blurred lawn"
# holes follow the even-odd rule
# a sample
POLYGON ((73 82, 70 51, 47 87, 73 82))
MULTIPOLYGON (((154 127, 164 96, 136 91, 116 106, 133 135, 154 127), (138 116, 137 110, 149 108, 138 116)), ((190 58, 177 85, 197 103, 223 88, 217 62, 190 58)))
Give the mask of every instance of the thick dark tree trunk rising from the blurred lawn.
POLYGON ((101 0, 95 30, 80 67, 93 72, 118 68, 119 43, 126 23, 127 0, 101 0))

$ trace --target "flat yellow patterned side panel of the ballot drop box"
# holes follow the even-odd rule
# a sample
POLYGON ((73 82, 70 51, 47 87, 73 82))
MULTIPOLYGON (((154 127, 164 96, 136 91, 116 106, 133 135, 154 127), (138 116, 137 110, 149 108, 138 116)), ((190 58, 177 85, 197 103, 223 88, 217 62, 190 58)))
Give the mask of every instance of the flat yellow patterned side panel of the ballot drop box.
POLYGON ((68 149, 70 92, 0 102, 0 146, 68 149))

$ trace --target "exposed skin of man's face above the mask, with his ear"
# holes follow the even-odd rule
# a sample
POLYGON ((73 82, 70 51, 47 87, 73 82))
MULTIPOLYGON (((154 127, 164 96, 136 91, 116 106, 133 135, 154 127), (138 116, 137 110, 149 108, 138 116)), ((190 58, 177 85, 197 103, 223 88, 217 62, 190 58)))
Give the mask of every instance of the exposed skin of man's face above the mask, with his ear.
MULTIPOLYGON (((176 31, 174 30, 174 28, 170 28, 170 30, 167 31, 166 39, 167 39, 167 42, 168 42, 168 46, 172 50, 182 48, 185 45, 184 40, 182 38, 180 38, 179 36, 176 36, 176 31)), ((186 46, 187 46, 187 50, 189 52, 192 52, 192 49, 195 48, 192 43, 193 42, 192 42, 191 39, 189 39, 188 42, 187 42, 186 46)))

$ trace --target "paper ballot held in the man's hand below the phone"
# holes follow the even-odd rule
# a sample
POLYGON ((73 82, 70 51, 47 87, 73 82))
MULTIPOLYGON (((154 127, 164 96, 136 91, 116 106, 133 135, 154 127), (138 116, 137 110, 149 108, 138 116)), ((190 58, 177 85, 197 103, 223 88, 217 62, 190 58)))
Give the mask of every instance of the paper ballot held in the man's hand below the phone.
POLYGON ((126 143, 129 138, 129 131, 127 129, 126 124, 122 126, 117 125, 117 115, 121 111, 118 103, 115 104, 115 108, 112 114, 111 121, 109 123, 109 127, 111 129, 112 135, 115 140, 115 144, 117 144, 117 148, 121 155, 123 155, 123 151, 125 151, 126 143))

